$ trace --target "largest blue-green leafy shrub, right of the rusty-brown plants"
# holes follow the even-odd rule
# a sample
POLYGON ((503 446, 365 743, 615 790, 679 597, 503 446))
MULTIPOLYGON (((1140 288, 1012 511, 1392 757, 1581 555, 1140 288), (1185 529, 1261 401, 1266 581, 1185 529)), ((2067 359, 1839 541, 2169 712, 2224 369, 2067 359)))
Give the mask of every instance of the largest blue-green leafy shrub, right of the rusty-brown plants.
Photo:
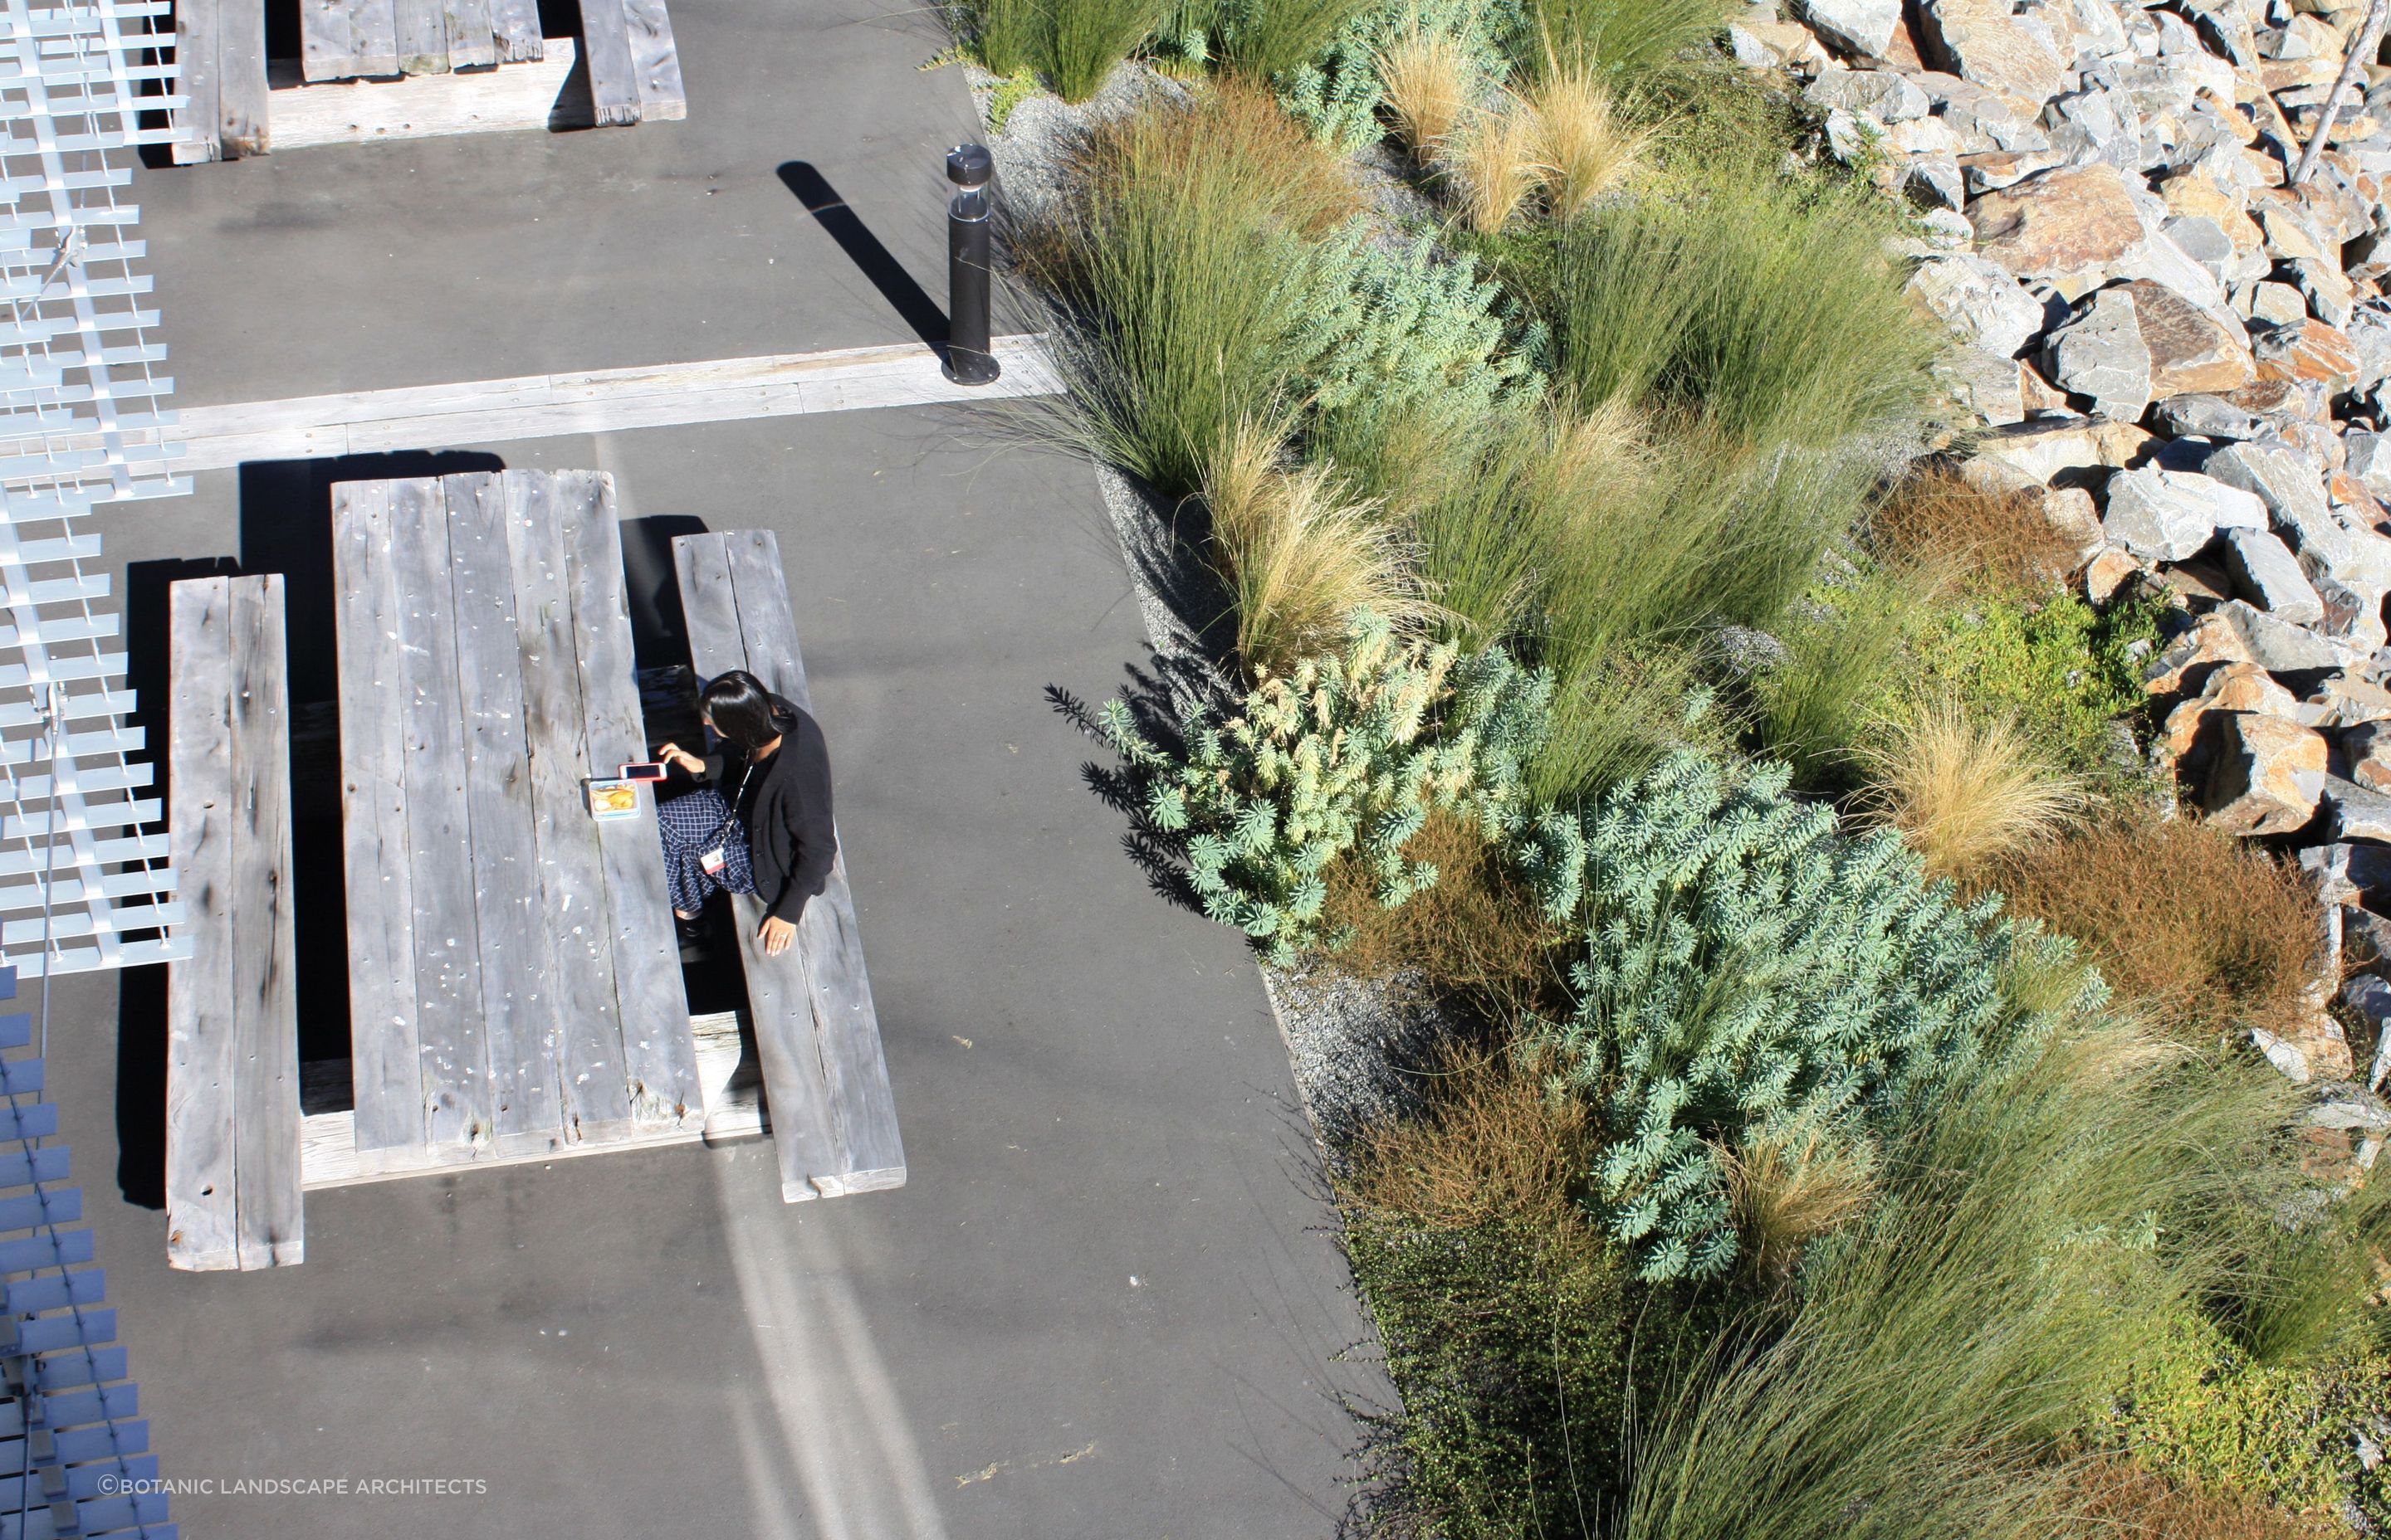
MULTIPOLYGON (((1585 935, 1566 1078, 1607 1131, 1595 1198, 1645 1279, 1736 1260, 1722 1148, 1803 1122, 1872 1138, 2047 1016, 2004 971, 2066 942, 1961 906, 1898 837, 1839 832, 1784 765, 1681 753, 1521 839, 1545 913, 1585 935)), ((2097 1000, 2085 976, 2068 1009, 2097 1000)))

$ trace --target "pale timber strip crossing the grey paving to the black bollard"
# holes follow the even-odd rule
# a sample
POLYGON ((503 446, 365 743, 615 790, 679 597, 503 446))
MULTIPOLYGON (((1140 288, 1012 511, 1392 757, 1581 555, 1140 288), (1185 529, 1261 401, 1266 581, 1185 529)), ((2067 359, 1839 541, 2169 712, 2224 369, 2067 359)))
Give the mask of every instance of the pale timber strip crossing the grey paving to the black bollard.
POLYGON ((177 426, 155 433, 182 442, 175 471, 230 471, 256 459, 450 450, 569 433, 1062 392, 1045 337, 997 337, 992 352, 1004 366, 992 385, 947 380, 937 354, 909 342, 186 407, 177 426))

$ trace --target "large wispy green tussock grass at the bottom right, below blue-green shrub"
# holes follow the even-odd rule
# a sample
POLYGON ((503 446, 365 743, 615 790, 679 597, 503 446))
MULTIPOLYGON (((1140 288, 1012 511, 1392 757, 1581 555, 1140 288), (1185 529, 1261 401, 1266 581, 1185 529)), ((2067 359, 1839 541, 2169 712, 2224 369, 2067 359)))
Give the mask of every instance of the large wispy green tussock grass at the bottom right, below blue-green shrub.
POLYGON ((1645 1437, 1619 1540, 2042 1540, 2051 1456, 2228 1267, 2288 1090, 2145 1028, 2063 1028, 1896 1141, 1774 1332, 1645 1437))

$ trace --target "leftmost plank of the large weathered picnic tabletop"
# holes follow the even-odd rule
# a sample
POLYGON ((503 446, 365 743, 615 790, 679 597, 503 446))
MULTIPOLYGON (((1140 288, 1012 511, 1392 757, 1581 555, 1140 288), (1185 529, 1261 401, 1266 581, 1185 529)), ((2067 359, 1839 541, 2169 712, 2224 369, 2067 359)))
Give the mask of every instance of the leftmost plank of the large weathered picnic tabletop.
POLYGON ((356 1148, 423 1145, 416 1040, 414 882, 406 839, 406 732, 399 595, 390 562, 390 483, 332 488, 340 641, 340 830, 349 897, 349 1055, 356 1148))

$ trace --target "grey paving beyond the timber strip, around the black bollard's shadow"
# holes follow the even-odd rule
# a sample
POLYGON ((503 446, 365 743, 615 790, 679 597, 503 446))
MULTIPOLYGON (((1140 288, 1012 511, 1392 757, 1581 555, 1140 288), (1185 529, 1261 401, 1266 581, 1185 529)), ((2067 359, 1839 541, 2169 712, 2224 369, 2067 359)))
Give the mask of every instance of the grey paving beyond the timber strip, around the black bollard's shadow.
POLYGON ((921 69, 935 14, 686 0, 672 36, 689 122, 146 170, 177 402, 913 337, 839 239, 892 253, 925 289, 882 273, 906 304, 944 301, 942 155, 978 120, 961 69, 921 69), (823 187, 851 220, 806 208, 823 187))

